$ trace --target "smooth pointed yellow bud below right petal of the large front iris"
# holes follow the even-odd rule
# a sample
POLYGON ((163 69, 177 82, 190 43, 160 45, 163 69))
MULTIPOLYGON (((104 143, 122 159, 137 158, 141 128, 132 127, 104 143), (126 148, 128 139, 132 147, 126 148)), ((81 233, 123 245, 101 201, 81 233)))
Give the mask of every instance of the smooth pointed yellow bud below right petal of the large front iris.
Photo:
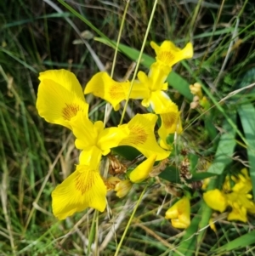
POLYGON ((149 177, 149 174, 153 168, 153 165, 156 161, 156 155, 150 156, 144 162, 140 163, 137 168, 134 168, 131 174, 129 175, 129 179, 133 183, 140 183, 149 177))

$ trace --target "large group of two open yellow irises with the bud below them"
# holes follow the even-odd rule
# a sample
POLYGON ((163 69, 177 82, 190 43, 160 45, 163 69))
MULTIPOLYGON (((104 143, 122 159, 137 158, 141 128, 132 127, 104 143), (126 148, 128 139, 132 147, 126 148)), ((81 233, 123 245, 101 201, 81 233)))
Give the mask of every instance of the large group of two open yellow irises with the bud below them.
POLYGON ((177 105, 163 92, 167 90, 165 81, 175 63, 192 57, 193 48, 188 43, 184 49, 179 49, 170 41, 165 41, 161 47, 151 43, 151 47, 156 51, 156 62, 150 66, 148 75, 139 72, 130 99, 141 99, 142 105, 150 106, 155 114, 137 114, 130 122, 117 127, 105 128, 101 121, 92 122, 88 117, 89 106, 84 94, 94 94, 107 100, 114 110, 118 110, 120 102, 127 100, 131 86, 129 81, 116 82, 106 72, 99 72, 88 82, 83 94, 77 77, 70 71, 50 70, 40 73, 37 94, 39 115, 47 122, 71 129, 76 137, 75 145, 81 150, 75 172, 52 193, 53 213, 57 218, 65 219, 88 207, 104 211, 108 189, 106 183, 111 183, 117 195, 122 197, 133 183, 149 177, 155 161, 169 156, 171 146, 167 145, 167 136, 181 133, 182 126, 177 105), (154 132, 157 114, 161 117, 158 130, 160 145, 154 132), (136 148, 147 160, 133 170, 127 181, 105 180, 99 173, 101 158, 119 145, 136 148))

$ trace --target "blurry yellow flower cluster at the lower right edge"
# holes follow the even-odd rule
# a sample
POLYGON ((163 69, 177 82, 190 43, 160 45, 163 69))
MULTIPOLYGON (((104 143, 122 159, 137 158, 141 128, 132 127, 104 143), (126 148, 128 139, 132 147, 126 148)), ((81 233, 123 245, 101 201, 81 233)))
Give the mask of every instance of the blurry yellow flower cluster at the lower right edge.
POLYGON ((232 208, 228 214, 228 220, 240 220, 247 222, 247 213, 255 213, 255 204, 252 201, 251 178, 247 169, 243 168, 241 174, 226 177, 223 190, 218 189, 207 191, 203 198, 207 205, 213 210, 223 213, 227 207, 232 208), (235 185, 231 185, 234 183, 235 185))

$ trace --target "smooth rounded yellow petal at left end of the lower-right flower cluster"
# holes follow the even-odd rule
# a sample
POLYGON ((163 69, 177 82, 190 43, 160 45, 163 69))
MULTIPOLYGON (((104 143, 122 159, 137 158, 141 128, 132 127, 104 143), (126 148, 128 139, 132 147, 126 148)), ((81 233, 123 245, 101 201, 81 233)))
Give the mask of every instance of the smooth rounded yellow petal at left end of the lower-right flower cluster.
POLYGON ((228 206, 226 196, 222 191, 219 191, 218 189, 205 192, 203 194, 203 198, 209 208, 212 208, 213 210, 219 211, 221 213, 223 213, 228 206))

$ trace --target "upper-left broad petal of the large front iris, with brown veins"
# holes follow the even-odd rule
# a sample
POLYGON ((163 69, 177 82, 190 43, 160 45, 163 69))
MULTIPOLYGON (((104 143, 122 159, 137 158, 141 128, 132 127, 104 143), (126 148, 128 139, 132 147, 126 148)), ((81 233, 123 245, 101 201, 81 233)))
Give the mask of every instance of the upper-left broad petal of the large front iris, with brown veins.
POLYGON ((40 73, 37 110, 47 122, 71 128, 70 120, 82 111, 88 115, 82 87, 70 71, 53 70, 40 73))

